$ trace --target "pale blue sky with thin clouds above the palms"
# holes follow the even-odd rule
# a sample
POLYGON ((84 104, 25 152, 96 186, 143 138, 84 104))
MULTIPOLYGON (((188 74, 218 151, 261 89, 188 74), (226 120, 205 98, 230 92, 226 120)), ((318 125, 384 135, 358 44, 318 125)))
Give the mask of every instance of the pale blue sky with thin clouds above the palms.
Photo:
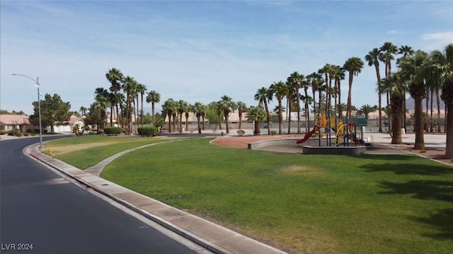
MULTIPOLYGON (((453 42, 452 1, 6 0, 0 6, 0 108, 27 114, 38 99, 34 83, 13 73, 39 77, 42 94, 59 94, 74 111, 93 103, 97 87, 110 86, 105 73, 113 67, 159 92, 161 103, 207 104, 227 95, 250 106, 258 88, 350 57, 365 62, 384 42, 426 52, 453 42)), ((342 87, 345 102, 347 77, 342 87)), ((354 78, 352 104, 377 105, 376 74, 366 62, 354 78)))

